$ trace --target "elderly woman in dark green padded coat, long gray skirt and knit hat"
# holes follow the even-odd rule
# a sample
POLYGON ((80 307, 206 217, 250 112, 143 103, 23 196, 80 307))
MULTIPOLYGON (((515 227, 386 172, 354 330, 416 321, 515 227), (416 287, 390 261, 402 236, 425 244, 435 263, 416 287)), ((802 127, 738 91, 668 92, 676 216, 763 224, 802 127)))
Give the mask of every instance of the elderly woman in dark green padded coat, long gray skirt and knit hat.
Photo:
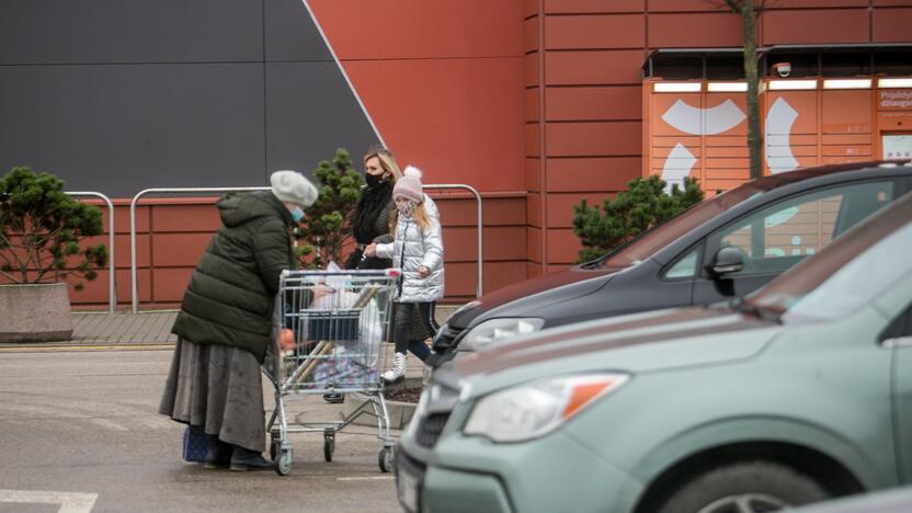
POLYGON ((272 468, 265 446, 260 377, 283 270, 295 269, 292 230, 317 189, 276 171, 271 191, 228 194, 223 226, 206 248, 171 329, 178 335, 159 413, 213 440, 204 465, 272 468))

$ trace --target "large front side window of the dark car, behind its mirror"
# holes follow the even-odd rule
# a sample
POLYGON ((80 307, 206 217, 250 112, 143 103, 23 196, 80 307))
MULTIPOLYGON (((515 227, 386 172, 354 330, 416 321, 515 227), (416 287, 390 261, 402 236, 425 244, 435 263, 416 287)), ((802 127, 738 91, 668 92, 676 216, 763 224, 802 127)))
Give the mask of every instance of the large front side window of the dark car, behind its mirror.
POLYGON ((725 228, 719 246, 731 246, 743 253, 744 266, 734 275, 780 273, 817 253, 892 198, 892 181, 855 183, 803 194, 725 228))

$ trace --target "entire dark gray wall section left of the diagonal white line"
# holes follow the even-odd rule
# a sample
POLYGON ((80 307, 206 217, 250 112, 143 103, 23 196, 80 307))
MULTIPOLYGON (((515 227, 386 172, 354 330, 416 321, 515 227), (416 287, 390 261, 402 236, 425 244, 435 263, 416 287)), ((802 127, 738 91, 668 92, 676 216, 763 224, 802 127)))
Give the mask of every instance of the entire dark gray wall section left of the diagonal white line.
POLYGON ((0 173, 129 197, 375 140, 300 0, 0 0, 0 173))

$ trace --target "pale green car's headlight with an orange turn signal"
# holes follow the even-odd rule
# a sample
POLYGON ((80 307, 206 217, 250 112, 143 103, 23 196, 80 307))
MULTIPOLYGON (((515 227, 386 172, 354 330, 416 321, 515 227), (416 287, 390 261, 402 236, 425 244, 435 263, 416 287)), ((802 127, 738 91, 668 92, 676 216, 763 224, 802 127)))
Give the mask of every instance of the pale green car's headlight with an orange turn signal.
POLYGON ((478 400, 463 432, 493 442, 524 442, 550 433, 629 380, 627 374, 565 376, 508 388, 478 400))

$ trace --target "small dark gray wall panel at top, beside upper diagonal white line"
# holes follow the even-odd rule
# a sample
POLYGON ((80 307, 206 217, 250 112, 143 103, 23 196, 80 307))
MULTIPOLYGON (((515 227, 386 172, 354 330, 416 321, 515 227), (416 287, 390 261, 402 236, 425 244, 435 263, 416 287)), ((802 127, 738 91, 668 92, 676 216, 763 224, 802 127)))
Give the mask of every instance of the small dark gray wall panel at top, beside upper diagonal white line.
POLYGON ((332 60, 301 0, 269 0, 263 8, 266 61, 332 60))

